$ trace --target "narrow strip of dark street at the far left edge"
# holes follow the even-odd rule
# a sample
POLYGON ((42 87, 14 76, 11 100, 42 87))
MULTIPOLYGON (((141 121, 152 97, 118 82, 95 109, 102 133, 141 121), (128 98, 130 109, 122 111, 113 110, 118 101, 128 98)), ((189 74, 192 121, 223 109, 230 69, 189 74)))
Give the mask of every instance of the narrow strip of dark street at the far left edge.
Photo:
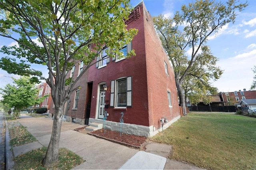
POLYGON ((4 112, 0 112, 0 169, 5 169, 5 120, 4 112))

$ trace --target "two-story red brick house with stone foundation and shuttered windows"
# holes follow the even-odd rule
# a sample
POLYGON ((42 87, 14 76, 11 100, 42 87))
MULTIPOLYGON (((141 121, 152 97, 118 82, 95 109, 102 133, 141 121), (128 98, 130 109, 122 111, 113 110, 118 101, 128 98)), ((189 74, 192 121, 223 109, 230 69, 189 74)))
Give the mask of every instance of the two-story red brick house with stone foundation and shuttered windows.
MULTIPOLYGON (((120 50, 126 55, 134 49, 136 56, 112 58, 104 49, 76 83, 80 88, 70 95, 64 116, 69 122, 103 124, 114 131, 120 131, 123 121, 123 133, 154 136, 181 116, 174 71, 143 2, 125 23, 138 34, 120 50)), ((83 67, 80 62, 68 74, 77 76, 83 67)))

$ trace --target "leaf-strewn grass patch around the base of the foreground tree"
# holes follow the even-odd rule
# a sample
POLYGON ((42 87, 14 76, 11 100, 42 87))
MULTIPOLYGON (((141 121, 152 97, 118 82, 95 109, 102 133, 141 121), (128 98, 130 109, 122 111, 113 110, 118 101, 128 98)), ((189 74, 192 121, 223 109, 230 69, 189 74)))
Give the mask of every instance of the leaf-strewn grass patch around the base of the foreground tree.
MULTIPOLYGON (((28 170, 28 169, 38 169, 38 170, 45 170, 46 168, 41 166, 41 161, 46 154, 47 148, 40 148, 37 150, 32 150, 26 154, 22 154, 14 158, 15 164, 14 169, 16 170, 28 170)), ((81 163, 84 160, 71 152, 66 148, 59 149, 59 161, 56 166, 53 166, 48 169, 59 169, 59 170, 70 170, 81 163)))

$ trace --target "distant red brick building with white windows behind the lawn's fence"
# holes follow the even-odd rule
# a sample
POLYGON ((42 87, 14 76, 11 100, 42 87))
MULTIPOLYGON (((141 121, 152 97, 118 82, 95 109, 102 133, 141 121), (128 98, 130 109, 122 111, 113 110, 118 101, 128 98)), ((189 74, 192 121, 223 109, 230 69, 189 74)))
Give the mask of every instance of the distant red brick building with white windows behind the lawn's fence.
POLYGON ((256 91, 234 91, 234 92, 222 92, 222 98, 224 101, 224 105, 239 105, 239 102, 242 99, 256 99, 256 91))

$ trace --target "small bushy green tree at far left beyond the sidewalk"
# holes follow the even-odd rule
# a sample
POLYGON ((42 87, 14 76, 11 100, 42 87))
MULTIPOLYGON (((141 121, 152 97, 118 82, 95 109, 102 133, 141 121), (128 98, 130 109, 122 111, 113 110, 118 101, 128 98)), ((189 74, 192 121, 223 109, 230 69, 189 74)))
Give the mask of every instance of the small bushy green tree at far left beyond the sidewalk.
POLYGON ((13 117, 17 119, 20 116, 20 111, 29 106, 39 104, 44 101, 45 97, 38 98, 39 89, 35 83, 31 82, 30 77, 20 77, 20 79, 12 78, 14 83, 7 84, 3 89, 0 88, 2 94, 2 103, 13 109, 13 117))

